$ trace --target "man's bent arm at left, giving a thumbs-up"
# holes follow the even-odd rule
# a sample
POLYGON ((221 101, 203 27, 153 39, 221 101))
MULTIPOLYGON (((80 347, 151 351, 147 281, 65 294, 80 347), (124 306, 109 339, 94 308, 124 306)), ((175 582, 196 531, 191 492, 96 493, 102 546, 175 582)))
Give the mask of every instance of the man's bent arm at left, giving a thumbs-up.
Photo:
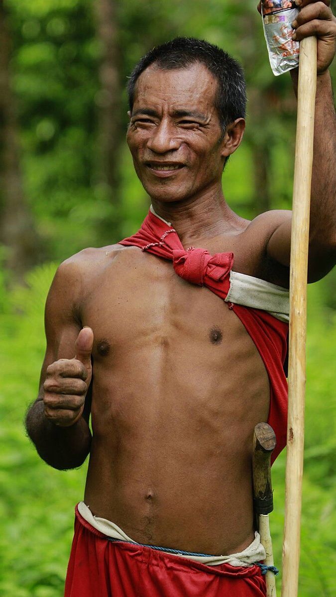
POLYGON ((38 399, 26 429, 39 456, 56 469, 81 466, 90 451, 93 332, 81 329, 76 309, 83 296, 76 261, 57 270, 45 307, 47 350, 38 399), (75 355, 75 356, 74 356, 75 355))

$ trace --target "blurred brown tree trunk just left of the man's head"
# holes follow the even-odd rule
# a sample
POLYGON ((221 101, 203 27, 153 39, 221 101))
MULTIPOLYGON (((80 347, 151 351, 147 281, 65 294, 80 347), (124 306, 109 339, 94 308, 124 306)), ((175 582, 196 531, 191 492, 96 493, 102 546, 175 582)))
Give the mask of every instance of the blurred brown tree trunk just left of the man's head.
POLYGON ((124 141, 121 114, 121 49, 118 30, 117 0, 96 0, 97 33, 102 48, 100 63, 99 106, 99 183, 103 196, 112 207, 111 217, 100 223, 102 241, 120 239, 121 147, 124 141))

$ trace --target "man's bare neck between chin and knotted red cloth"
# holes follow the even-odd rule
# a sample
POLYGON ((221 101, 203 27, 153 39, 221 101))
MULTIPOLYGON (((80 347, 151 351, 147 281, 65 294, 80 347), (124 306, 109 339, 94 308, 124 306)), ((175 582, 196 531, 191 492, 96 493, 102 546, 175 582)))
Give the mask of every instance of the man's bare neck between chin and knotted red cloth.
POLYGON ((152 200, 152 207, 158 216, 172 223, 184 246, 237 228, 237 216, 225 202, 222 190, 217 196, 204 194, 172 203, 152 200))

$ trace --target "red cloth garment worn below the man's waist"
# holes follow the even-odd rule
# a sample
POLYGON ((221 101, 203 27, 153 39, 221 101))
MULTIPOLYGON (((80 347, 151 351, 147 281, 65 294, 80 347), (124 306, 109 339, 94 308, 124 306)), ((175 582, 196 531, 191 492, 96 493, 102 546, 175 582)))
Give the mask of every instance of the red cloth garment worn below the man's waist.
POLYGON ((260 568, 206 566, 124 541, 112 542, 76 508, 65 597, 265 597, 260 568))

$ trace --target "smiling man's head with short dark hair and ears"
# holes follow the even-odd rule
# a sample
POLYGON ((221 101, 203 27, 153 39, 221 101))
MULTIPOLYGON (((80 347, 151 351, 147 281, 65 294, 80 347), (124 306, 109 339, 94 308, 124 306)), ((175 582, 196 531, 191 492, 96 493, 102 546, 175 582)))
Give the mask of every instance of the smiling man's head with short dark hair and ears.
POLYGON ((239 64, 205 41, 177 38, 140 60, 129 99, 127 141, 152 201, 218 194, 245 127, 239 64))

